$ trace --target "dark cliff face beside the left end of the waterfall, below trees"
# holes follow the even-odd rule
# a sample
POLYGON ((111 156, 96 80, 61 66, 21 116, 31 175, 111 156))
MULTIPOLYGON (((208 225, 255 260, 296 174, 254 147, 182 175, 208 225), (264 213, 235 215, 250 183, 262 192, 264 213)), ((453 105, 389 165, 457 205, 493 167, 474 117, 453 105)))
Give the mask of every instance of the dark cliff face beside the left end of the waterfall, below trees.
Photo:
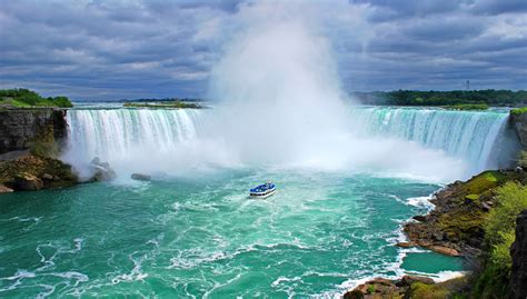
POLYGON ((0 110, 0 155, 27 150, 34 142, 60 142, 66 134, 66 110, 0 110))

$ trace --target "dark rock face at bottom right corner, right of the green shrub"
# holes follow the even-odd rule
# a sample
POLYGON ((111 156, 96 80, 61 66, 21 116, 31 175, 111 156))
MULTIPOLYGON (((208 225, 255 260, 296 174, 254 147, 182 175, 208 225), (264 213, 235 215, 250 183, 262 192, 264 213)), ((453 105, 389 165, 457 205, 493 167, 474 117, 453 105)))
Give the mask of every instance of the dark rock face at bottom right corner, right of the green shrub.
POLYGON ((516 219, 516 241, 510 247, 513 269, 510 272, 511 298, 527 297, 527 210, 516 219))

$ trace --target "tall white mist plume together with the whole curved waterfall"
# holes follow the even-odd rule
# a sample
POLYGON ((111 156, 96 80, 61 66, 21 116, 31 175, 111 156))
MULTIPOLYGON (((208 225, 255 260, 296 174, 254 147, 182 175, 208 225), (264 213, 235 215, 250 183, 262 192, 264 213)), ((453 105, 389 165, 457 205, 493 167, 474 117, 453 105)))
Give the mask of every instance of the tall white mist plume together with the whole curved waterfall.
POLYGON ((237 33, 211 71, 213 109, 70 110, 64 159, 100 157, 123 178, 251 167, 449 181, 498 167, 505 113, 354 107, 311 29, 274 18, 237 33))

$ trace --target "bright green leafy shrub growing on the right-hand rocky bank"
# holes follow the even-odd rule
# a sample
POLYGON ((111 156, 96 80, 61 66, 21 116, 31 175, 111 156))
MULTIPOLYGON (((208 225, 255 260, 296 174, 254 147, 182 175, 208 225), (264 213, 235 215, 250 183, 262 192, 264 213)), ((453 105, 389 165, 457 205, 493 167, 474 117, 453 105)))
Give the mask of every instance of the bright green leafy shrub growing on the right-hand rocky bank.
POLYGON ((507 182, 496 190, 496 208, 485 225, 485 270, 479 275, 474 298, 505 298, 508 292, 516 216, 527 209, 527 187, 507 182))

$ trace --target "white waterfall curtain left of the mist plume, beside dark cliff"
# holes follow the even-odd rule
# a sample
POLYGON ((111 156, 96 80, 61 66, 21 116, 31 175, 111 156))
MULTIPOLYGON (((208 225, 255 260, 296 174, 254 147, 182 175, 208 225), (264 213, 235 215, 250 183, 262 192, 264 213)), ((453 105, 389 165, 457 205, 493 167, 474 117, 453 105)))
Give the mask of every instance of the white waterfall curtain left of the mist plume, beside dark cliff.
POLYGON ((64 159, 73 166, 79 165, 77 160, 86 163, 93 157, 110 162, 145 160, 196 138, 200 114, 195 109, 69 110, 64 159))

